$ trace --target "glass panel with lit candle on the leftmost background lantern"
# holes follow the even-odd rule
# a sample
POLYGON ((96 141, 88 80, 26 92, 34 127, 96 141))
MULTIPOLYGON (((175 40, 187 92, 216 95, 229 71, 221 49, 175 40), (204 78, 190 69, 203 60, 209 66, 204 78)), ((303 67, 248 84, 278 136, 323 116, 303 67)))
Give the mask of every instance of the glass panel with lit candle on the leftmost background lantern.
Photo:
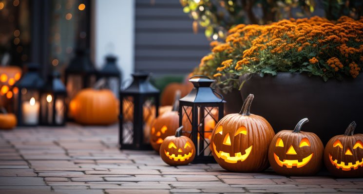
POLYGON ((25 125, 37 125, 39 121, 39 92, 36 90, 21 89, 22 121, 25 125))

